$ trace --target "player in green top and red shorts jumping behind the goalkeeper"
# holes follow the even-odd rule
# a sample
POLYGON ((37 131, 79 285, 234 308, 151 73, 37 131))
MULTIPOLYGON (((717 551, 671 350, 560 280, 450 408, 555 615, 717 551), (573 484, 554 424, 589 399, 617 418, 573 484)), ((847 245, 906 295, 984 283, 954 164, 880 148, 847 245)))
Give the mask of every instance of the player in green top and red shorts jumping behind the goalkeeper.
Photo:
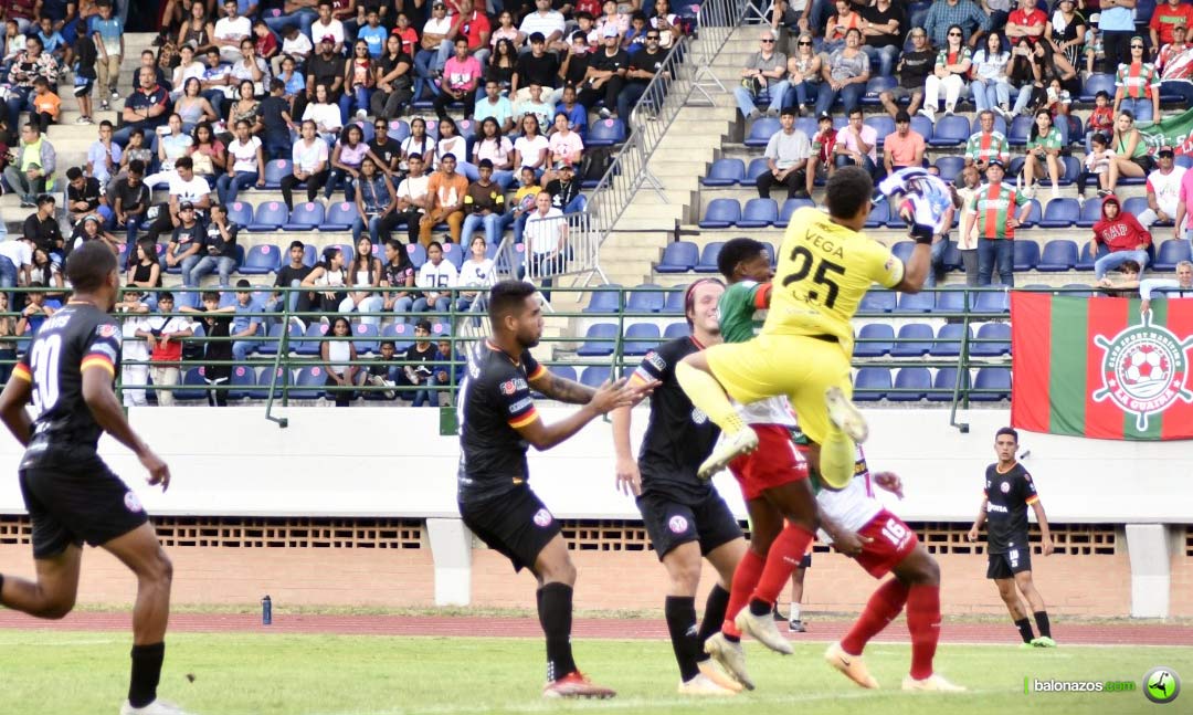
MULTIPOLYGON (((725 343, 750 340, 766 319, 774 276, 765 244, 733 239, 722 247, 717 267, 729 286, 721 296, 721 335, 725 343)), ((791 573, 816 532, 816 498, 808 481, 806 461, 791 440, 796 419, 787 399, 769 397, 740 408, 758 434, 758 449, 729 463, 741 485, 750 517, 750 548, 734 572, 725 622, 709 637, 705 652, 748 689, 741 634, 748 633, 783 654, 791 643, 775 628, 771 612, 791 573)), ((861 544, 852 532, 836 534, 840 549, 861 544)))

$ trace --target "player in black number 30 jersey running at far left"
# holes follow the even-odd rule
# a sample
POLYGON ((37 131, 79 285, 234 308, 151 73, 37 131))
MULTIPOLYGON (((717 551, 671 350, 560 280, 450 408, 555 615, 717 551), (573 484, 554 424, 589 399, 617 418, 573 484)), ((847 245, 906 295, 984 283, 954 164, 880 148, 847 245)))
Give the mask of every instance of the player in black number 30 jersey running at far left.
POLYGON ((26 446, 20 491, 33 520, 37 580, 0 575, 0 604, 38 618, 62 618, 79 591, 81 546, 103 547, 137 577, 132 676, 122 715, 181 715, 157 699, 169 617, 172 567, 137 495, 95 451, 107 432, 131 449, 149 483, 169 486, 169 468, 124 419, 112 381, 120 326, 109 315, 119 290, 116 257, 101 241, 70 253, 74 295, 42 323, 27 356, 0 394, 0 419, 26 446), (31 420, 25 407, 38 412, 31 420))

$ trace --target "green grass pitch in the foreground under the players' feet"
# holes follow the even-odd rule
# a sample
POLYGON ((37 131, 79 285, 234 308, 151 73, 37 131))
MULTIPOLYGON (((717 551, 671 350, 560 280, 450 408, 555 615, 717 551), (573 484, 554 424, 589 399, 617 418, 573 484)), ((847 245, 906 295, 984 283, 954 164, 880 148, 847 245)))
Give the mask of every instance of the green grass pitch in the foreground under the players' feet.
MULTIPOLYGON (((118 711, 129 672, 129 636, 112 631, 0 630, 0 703, 13 714, 118 711)), ((1164 665, 1189 678, 1193 648, 941 645, 937 670, 966 694, 902 692, 905 645, 866 649, 882 690, 857 688, 821 658, 824 643, 796 643, 779 657, 747 643, 758 690, 731 698, 676 695, 666 641, 587 640, 576 660, 618 690, 610 701, 544 701, 543 643, 533 639, 178 634, 168 637, 160 695, 197 715, 517 714, 555 711, 830 715, 1040 711, 1189 713, 1193 691, 1167 705, 1143 695, 1146 671, 1164 665), (193 676, 193 682, 190 676, 193 676), (1133 691, 1025 694, 1025 678, 1130 680, 1133 691)))

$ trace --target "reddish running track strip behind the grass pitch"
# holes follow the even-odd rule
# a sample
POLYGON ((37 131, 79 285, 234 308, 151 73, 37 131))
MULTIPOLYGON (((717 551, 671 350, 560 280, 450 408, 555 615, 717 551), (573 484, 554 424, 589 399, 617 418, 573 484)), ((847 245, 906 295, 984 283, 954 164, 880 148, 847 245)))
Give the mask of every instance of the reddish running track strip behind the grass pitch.
MULTIPOLYGON (((131 612, 78 612, 62 621, 39 621, 0 611, 0 629, 50 630, 129 630, 131 612)), ((792 640, 812 642, 840 639, 847 621, 812 621, 809 633, 792 640)), ((320 616, 274 612, 273 624, 261 625, 260 617, 249 614, 178 614, 169 618, 172 633, 285 633, 330 635, 389 636, 481 636, 540 637, 534 618, 464 617, 464 616, 320 616)), ((780 630, 785 630, 780 625, 780 630)), ((1055 620, 1052 633, 1062 645, 1088 646, 1189 646, 1193 625, 1149 623, 1065 623, 1055 620)), ((577 618, 573 635, 579 639, 666 639, 667 624, 661 620, 577 618)), ((879 642, 909 642, 907 627, 895 623, 876 639, 879 642)), ((941 640, 953 643, 1019 642, 1010 623, 948 623, 941 628, 941 640)))

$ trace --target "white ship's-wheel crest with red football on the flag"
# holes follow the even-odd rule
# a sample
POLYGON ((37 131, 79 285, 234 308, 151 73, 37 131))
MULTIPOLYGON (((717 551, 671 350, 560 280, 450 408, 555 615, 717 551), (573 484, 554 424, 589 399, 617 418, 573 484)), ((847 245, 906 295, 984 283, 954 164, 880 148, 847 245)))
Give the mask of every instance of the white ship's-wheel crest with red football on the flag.
POLYGON ((1193 347, 1193 337, 1182 343, 1162 325, 1154 325, 1149 310, 1143 322, 1124 328, 1117 335, 1094 335, 1102 350, 1101 387, 1093 392, 1095 402, 1109 400, 1123 412, 1135 415, 1136 429, 1148 429, 1148 420, 1161 414, 1176 400, 1193 402, 1188 389, 1188 360, 1185 352, 1193 347))

